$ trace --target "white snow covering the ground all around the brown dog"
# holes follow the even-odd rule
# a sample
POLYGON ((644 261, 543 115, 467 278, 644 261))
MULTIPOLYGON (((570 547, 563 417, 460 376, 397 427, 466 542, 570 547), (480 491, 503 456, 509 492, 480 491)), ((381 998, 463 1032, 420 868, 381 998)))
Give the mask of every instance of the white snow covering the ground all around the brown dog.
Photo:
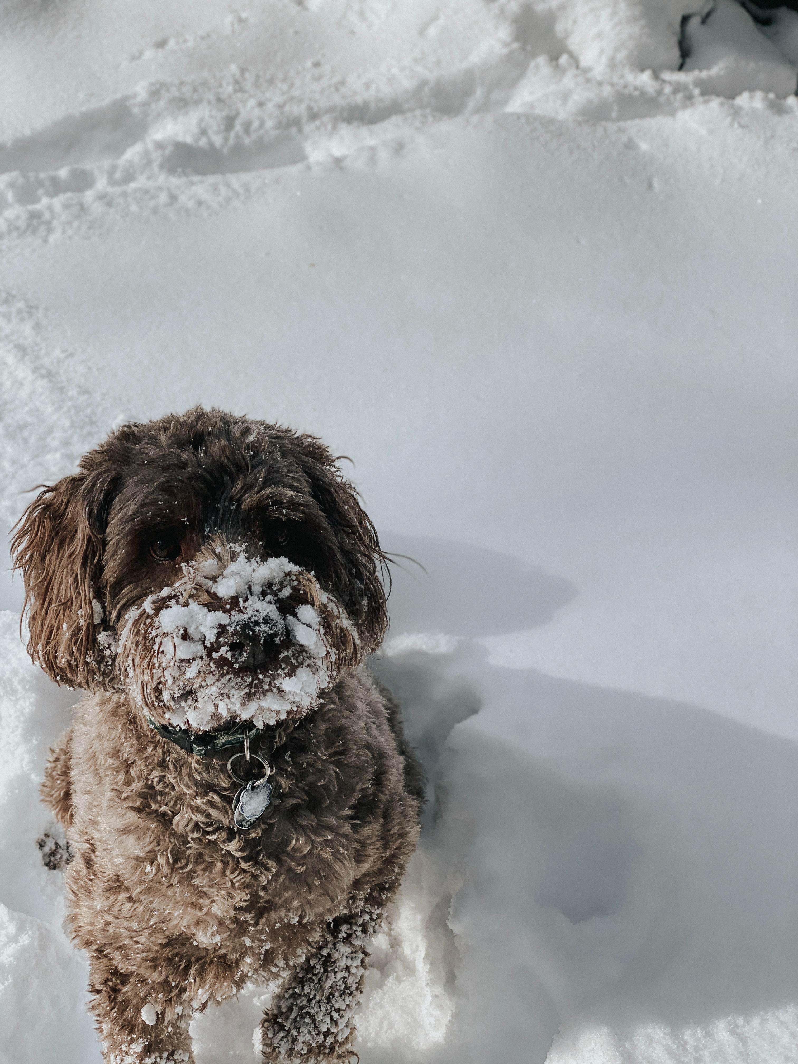
MULTIPOLYGON (((426 568, 362 1064, 798 1060, 797 64, 735 0, 0 11, 6 526, 201 401, 351 455, 426 568)), ((0 1064, 97 1064, 36 845, 77 695, 0 595, 0 1064)))

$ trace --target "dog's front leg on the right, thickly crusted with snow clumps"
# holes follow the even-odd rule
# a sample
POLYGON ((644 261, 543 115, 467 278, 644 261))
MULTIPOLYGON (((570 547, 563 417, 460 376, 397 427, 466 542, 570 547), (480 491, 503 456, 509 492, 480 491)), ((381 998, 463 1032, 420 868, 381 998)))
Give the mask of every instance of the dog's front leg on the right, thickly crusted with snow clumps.
POLYGON ((280 988, 261 1021, 261 1051, 269 1064, 354 1061, 354 1008, 366 972, 366 942, 382 919, 369 894, 354 912, 328 920, 280 988))

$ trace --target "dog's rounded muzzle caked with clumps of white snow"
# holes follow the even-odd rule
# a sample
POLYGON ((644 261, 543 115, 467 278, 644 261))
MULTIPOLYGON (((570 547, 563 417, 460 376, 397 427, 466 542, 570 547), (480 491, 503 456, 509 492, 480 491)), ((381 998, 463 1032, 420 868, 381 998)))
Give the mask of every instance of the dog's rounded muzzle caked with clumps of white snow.
POLYGON ((153 720, 205 731, 303 716, 360 658, 346 611, 312 572, 217 542, 130 611, 117 666, 153 720))

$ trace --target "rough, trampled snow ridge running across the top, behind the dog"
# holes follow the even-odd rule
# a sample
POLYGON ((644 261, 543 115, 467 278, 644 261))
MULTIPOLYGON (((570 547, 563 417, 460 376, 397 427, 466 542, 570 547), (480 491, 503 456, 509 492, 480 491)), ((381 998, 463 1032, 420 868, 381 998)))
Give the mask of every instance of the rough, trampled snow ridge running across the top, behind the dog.
POLYGON ((247 182, 228 181, 221 193, 203 189, 197 178, 325 163, 459 116, 636 118, 689 109, 712 95, 753 90, 783 99, 798 82, 798 13, 751 0, 267 7, 276 37, 281 28, 310 33, 299 68, 280 54, 264 64, 253 49, 257 30, 266 30, 264 10, 196 35, 157 37, 133 53, 120 35, 103 57, 94 105, 63 114, 53 101, 53 120, 44 127, 36 123, 41 109, 22 101, 17 122, 0 116, 6 231, 18 231, 23 219, 28 231, 67 223, 49 217, 49 209, 40 217, 55 201, 67 216, 85 202, 135 210, 145 187, 218 205, 219 196, 246 196, 247 182), (367 47, 353 49, 353 35, 367 47), (186 52, 212 46, 202 73, 187 74, 186 52))

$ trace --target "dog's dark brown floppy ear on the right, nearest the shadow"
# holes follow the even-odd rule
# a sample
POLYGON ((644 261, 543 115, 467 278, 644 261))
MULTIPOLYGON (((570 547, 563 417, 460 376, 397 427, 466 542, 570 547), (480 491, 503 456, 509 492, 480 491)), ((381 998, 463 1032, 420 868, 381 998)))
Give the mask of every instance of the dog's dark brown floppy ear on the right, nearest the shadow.
POLYGON ((338 597, 358 629, 364 653, 370 653, 382 643, 388 627, 382 585, 385 555, 377 530, 325 445, 313 436, 298 436, 297 440, 301 445, 300 465, 333 528, 344 562, 338 597))

